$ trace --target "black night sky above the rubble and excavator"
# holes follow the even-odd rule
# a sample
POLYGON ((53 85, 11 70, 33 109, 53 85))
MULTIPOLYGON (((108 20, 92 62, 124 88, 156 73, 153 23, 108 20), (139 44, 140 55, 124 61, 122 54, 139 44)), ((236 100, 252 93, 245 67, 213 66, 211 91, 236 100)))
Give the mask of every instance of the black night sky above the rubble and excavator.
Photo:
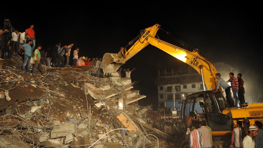
MULTIPOLYGON (((257 7, 256 4, 250 7, 249 4, 174 4, 160 1, 127 2, 123 5, 71 2, 63 6, 35 5, 30 14, 25 9, 23 15, 18 11, 14 13, 15 8, 10 8, 10 12, 2 13, 0 18, 2 23, 10 19, 20 32, 34 24, 36 44, 43 48, 56 42, 61 42, 61 46, 74 42, 73 50, 79 47, 80 56, 90 58, 103 57, 106 52, 117 53, 140 30, 158 23, 176 38, 199 49, 210 61, 228 63, 238 69, 238 73, 244 73, 262 68, 261 56, 257 56, 262 49, 262 12, 257 7)), ((161 40, 178 45, 160 29, 157 35, 161 40)), ((153 104, 157 106, 155 79, 158 69, 170 71, 182 66, 186 65, 148 45, 122 68, 136 68, 131 74, 132 81, 139 81, 134 88, 147 96, 139 103, 146 105, 156 100, 153 104)))

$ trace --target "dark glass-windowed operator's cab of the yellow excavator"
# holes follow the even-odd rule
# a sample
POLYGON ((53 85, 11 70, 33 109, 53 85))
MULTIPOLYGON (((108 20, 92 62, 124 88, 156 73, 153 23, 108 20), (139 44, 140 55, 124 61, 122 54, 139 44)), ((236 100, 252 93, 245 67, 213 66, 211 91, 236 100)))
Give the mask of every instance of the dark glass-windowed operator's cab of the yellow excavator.
POLYGON ((204 113, 199 120, 205 120, 213 132, 232 132, 233 121, 231 111, 222 93, 202 91, 186 97, 181 109, 182 125, 186 129, 186 118, 189 112, 204 113), (200 107, 202 104, 202 107, 200 107))

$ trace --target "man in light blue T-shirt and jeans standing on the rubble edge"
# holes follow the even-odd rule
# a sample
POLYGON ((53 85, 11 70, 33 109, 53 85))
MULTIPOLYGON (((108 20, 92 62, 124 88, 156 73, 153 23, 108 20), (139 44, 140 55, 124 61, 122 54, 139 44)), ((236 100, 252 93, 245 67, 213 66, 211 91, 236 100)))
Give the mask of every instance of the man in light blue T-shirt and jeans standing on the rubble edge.
POLYGON ((27 44, 20 46, 21 50, 25 53, 24 55, 24 63, 22 66, 22 71, 25 70, 27 64, 27 72, 30 73, 30 62, 31 62, 31 55, 32 55, 32 47, 33 44, 32 40, 28 40, 27 44))

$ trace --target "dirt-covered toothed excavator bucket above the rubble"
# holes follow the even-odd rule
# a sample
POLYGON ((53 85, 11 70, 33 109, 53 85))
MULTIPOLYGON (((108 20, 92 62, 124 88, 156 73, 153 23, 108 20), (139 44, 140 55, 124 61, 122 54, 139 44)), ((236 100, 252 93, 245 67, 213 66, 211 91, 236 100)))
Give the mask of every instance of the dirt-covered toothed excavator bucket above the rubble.
POLYGON ((105 53, 102 58, 103 75, 111 75, 123 65, 117 53, 105 53))

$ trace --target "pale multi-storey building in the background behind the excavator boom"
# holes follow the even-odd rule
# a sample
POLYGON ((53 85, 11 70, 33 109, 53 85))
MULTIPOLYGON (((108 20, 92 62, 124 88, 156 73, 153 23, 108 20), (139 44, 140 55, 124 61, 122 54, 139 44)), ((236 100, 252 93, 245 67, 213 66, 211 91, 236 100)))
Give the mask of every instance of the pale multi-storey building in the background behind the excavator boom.
MULTIPOLYGON (((225 81, 229 79, 229 72, 233 72, 233 68, 223 62, 214 63, 214 67, 225 81)), ((191 66, 180 67, 177 71, 174 69, 171 71, 165 69, 163 72, 158 70, 156 85, 158 88, 158 107, 172 106, 173 110, 174 103, 175 107, 181 106, 183 94, 190 95, 204 90, 201 75, 191 66)), ((206 90, 210 90, 210 88, 206 88, 206 90)))

